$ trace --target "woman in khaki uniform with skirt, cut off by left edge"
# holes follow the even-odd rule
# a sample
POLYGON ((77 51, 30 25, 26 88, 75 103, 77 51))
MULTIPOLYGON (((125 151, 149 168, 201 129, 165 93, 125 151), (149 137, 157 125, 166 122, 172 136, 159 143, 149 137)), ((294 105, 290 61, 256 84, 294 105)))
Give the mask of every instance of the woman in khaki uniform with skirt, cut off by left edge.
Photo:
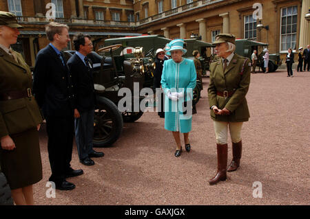
POLYGON ((42 178, 39 134, 42 117, 31 93, 32 76, 17 43, 16 16, 0 12, 0 162, 17 205, 34 205, 32 185, 42 178))

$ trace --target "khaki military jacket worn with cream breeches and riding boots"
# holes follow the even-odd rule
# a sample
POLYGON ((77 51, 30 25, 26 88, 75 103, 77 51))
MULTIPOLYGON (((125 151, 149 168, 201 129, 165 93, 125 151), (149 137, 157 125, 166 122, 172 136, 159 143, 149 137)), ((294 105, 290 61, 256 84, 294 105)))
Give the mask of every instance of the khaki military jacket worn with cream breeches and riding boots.
POLYGON ((209 106, 227 108, 230 115, 216 115, 211 110, 211 118, 223 122, 246 122, 249 120, 249 108, 247 106, 247 91, 249 90, 251 67, 249 59, 234 54, 233 58, 223 72, 223 60, 210 65, 210 83, 208 88, 209 106), (243 71, 242 71, 243 68, 243 71), (234 91, 231 97, 225 98, 217 95, 217 91, 234 91))

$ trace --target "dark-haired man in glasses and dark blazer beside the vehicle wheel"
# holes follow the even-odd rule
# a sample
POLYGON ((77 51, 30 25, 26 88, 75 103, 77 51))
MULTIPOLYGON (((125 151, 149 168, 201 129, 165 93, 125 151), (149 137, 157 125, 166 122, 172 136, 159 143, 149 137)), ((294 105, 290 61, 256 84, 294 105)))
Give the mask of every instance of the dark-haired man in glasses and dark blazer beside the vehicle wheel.
POLYGON ((86 57, 92 52, 90 36, 76 34, 73 38, 76 53, 68 60, 72 75, 74 91, 75 139, 80 162, 84 165, 94 165, 90 157, 103 157, 103 152, 92 148, 94 136, 94 82, 92 65, 86 57))

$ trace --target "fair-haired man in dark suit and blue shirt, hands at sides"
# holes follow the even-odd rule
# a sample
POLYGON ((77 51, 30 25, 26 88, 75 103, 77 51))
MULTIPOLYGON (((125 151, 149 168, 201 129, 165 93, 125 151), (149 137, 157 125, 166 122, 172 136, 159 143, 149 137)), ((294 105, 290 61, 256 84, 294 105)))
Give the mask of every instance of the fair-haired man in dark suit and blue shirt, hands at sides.
POLYGON ((70 190, 75 185, 65 178, 79 176, 83 170, 70 167, 74 136, 74 96, 68 66, 61 49, 70 42, 69 27, 49 23, 45 27, 50 44, 41 49, 34 67, 34 96, 42 108, 48 132, 48 157, 56 189, 70 190))

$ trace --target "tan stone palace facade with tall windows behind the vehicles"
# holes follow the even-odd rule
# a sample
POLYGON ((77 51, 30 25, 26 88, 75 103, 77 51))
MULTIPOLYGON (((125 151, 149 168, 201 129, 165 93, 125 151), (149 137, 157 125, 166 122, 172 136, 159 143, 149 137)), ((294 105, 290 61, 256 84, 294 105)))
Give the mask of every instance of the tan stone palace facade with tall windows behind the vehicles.
POLYGON ((95 49, 105 38, 141 34, 195 34, 210 43, 218 33, 231 33, 269 43, 269 52, 281 58, 289 47, 310 44, 310 23, 304 19, 310 0, 0 0, 0 10, 14 12, 25 26, 19 43, 32 66, 37 51, 48 43, 44 26, 51 2, 56 5, 54 21, 68 24, 70 36, 90 34, 95 49), (263 27, 257 29, 258 24, 263 27))

